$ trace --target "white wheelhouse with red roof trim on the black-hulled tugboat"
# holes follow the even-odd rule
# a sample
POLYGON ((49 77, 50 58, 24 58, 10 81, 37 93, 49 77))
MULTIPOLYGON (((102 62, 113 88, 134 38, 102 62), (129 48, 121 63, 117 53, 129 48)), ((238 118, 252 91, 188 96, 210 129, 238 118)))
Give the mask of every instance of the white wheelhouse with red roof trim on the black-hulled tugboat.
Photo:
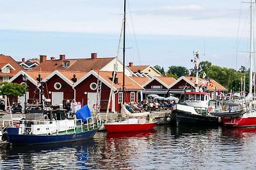
POLYGON ((185 94, 185 103, 197 108, 207 108, 209 99, 210 94, 207 92, 186 92, 185 94))

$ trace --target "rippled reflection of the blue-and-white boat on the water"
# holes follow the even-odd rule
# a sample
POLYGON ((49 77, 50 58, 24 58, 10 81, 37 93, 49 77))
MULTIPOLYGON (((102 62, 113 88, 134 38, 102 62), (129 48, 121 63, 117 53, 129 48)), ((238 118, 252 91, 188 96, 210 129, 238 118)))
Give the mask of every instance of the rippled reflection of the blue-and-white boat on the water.
POLYGON ((85 167, 95 141, 52 145, 10 146, 1 153, 3 169, 74 169, 85 167))

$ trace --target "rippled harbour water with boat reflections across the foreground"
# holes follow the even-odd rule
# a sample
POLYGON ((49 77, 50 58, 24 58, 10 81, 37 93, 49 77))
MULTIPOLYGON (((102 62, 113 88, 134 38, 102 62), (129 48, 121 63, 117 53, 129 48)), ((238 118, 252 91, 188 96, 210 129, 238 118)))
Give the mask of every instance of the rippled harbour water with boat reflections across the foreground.
POLYGON ((256 128, 170 127, 1 150, 1 169, 256 169, 256 128))

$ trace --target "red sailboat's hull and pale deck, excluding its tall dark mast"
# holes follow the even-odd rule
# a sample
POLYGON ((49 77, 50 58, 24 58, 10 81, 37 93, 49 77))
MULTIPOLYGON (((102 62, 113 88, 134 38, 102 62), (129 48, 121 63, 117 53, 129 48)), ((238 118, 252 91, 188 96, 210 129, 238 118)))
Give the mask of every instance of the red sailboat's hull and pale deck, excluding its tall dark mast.
POLYGON ((122 122, 104 124, 109 133, 147 131, 153 129, 156 125, 157 122, 145 122, 144 118, 129 118, 122 122))

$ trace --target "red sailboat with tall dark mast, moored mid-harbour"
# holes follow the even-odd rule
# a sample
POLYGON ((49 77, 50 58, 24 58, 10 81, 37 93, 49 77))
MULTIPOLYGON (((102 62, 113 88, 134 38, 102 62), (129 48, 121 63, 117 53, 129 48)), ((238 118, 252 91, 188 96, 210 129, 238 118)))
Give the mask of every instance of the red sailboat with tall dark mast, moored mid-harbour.
MULTIPOLYGON (((125 99, 125 16, 126 16, 126 0, 124 0, 124 46, 123 46, 123 103, 122 103, 122 117, 125 118, 126 115, 132 114, 125 109, 124 99, 125 99)), ((110 100, 109 100, 110 101, 110 100)), ((109 104, 108 104, 109 105, 109 104)), ((108 110, 107 110, 108 111, 108 110)), ((107 113, 108 114, 108 113, 107 113)), ((153 129, 157 125, 157 122, 153 122, 152 118, 149 121, 146 118, 125 118, 125 120, 119 122, 106 122, 104 124, 106 130, 109 133, 113 132, 134 132, 134 131, 147 131, 153 129)))

